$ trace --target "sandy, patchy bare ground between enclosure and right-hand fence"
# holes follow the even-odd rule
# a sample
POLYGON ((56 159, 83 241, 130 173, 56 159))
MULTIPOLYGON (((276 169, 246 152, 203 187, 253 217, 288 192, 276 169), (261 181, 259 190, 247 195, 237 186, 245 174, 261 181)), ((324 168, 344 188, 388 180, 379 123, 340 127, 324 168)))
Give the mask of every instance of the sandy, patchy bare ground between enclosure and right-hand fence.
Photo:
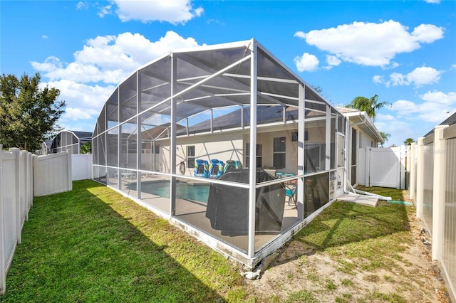
MULTIPOLYGON (((410 201, 407 191, 396 198, 410 201)), ((299 233, 279 250, 261 279, 245 281, 255 302, 450 302, 439 267, 430 258, 430 245, 423 243, 423 223, 415 216, 415 206, 381 202, 378 207, 385 208, 387 214, 389 208, 403 212, 402 219, 402 215, 394 218, 403 228, 393 226, 383 234, 338 239, 331 244, 331 239, 341 237, 340 226, 345 218, 355 220, 352 227, 346 228, 356 233, 358 222, 368 220, 370 225, 382 228, 381 223, 388 225, 388 218, 393 216, 388 214, 383 220, 378 214, 370 215, 368 208, 350 208, 339 202, 333 206, 341 208, 345 217, 338 222, 337 230, 333 228, 326 235, 325 243, 311 243, 312 231, 299 233), (383 245, 386 250, 375 245, 383 245)), ((332 224, 324 212, 322 215, 308 225, 315 233, 332 224)), ((361 230, 361 234, 369 232, 369 228, 361 230)))

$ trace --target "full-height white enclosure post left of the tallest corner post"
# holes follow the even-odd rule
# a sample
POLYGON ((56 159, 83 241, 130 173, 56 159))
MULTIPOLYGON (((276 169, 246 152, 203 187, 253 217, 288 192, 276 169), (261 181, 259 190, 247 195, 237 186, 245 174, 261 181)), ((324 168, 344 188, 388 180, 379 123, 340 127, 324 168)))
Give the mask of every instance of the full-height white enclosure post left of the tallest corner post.
POLYGON ((176 97, 177 92, 177 58, 171 53, 171 134, 170 134, 170 215, 176 214, 176 97))

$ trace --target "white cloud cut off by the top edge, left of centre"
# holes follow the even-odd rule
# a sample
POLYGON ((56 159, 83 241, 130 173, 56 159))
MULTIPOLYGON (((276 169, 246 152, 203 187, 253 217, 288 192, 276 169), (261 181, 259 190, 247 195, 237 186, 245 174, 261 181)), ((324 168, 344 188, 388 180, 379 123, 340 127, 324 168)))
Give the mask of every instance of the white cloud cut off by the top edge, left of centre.
MULTIPOLYGON (((114 0, 117 9, 115 14, 121 21, 137 20, 142 23, 152 21, 169 22, 172 24, 186 23, 192 18, 202 15, 204 9, 192 6, 190 0, 114 0)), ((103 15, 110 14, 113 7, 101 8, 103 15)))

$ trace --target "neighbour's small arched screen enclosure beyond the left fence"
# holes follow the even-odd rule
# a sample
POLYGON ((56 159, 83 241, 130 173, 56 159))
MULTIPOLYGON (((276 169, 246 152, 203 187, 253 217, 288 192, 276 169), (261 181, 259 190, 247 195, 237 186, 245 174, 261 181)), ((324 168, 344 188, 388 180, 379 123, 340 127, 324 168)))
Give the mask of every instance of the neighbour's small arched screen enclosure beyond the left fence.
POLYGON ((56 134, 52 139, 48 150, 50 154, 55 154, 61 151, 71 149, 72 154, 79 154, 81 145, 92 142, 91 132, 78 132, 63 130, 56 134))

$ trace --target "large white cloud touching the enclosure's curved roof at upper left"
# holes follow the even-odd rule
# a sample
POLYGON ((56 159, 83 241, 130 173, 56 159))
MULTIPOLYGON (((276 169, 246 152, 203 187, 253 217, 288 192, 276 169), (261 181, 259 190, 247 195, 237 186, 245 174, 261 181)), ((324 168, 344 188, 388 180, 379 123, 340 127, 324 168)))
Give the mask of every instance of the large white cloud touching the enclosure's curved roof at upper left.
POLYGON ((168 31, 155 42, 139 33, 120 33, 118 36, 88 39, 83 49, 74 53, 72 63, 48 57, 43 63, 31 64, 51 81, 65 79, 78 83, 117 84, 150 60, 175 48, 192 46, 198 46, 194 38, 183 38, 173 31, 168 31))

